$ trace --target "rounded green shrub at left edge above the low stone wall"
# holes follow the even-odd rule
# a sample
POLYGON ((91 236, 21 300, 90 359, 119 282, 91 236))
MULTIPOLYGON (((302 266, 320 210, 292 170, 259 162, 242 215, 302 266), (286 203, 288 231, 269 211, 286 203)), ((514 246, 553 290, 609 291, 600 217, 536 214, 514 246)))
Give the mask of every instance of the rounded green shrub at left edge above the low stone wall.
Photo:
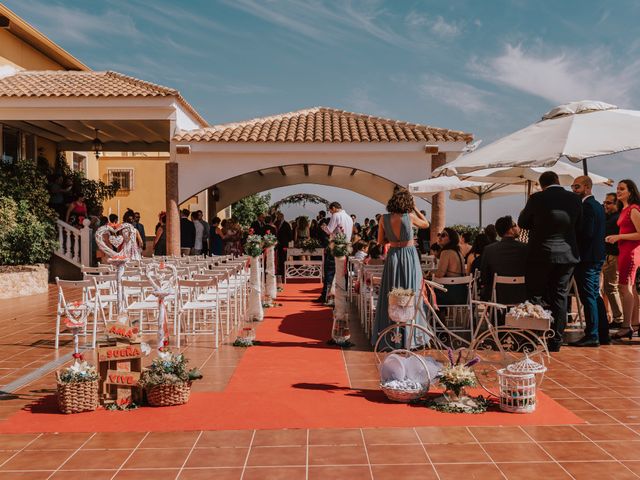
POLYGON ((28 201, 0 197, 0 265, 47 263, 55 239, 51 219, 28 201))

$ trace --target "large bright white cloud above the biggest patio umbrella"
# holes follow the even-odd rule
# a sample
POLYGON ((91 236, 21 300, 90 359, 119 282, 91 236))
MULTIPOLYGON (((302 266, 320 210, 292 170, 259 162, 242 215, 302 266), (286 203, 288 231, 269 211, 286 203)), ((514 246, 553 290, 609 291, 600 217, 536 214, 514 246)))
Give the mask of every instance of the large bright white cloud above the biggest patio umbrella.
POLYGON ((605 49, 543 54, 507 45, 501 55, 474 59, 468 68, 486 80, 555 104, 590 99, 628 106, 638 89, 640 59, 619 66, 605 49))

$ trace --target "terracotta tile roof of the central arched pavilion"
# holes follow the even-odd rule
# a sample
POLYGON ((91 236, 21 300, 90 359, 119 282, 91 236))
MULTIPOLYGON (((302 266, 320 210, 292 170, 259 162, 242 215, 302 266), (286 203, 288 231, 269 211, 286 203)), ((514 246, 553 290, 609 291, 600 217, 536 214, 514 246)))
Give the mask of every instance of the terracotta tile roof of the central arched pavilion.
POLYGON ((178 132, 178 142, 459 142, 470 133, 326 107, 178 132))

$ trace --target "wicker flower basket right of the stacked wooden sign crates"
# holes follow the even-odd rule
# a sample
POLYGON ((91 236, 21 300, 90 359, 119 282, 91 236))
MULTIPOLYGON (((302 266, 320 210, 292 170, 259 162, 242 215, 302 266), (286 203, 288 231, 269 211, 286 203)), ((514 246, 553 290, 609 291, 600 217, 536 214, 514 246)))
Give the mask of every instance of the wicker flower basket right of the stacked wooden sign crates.
POLYGON ((138 385, 147 392, 147 401, 154 407, 182 405, 189 401, 191 383, 202 378, 197 368, 187 370, 183 354, 170 351, 158 353, 158 358, 144 369, 138 385))

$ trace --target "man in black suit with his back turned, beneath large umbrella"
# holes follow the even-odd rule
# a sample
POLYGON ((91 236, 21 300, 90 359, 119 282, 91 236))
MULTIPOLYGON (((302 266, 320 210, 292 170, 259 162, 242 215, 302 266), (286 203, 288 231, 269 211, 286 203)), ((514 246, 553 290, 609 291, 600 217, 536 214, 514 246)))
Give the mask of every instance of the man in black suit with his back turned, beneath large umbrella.
POLYGON ((560 186, 555 172, 544 172, 538 182, 542 191, 529 197, 518 225, 529 230, 527 296, 551 310, 555 335, 548 346, 558 352, 567 325, 569 282, 580 261, 576 235, 581 228, 582 203, 560 186))

